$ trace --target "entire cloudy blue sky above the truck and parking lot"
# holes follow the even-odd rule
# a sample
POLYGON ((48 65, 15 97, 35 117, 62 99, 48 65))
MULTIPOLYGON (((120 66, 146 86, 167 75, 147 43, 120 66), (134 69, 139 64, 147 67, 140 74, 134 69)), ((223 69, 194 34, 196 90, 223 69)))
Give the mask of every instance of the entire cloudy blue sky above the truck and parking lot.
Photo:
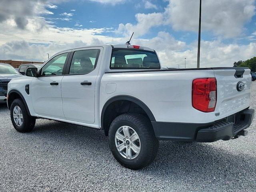
MULTIPOLYGON (((195 68, 199 0, 1 0, 0 59, 45 61, 64 49, 131 44, 164 67, 195 68)), ((256 0, 202 0, 200 67, 256 56, 256 0)))

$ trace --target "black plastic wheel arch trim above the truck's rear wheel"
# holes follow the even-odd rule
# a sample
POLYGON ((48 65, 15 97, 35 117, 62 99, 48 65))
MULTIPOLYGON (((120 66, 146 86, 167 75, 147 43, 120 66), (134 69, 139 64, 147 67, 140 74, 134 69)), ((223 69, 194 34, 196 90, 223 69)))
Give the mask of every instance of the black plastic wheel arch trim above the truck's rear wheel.
POLYGON ((133 97, 133 96, 128 96, 128 95, 119 95, 119 96, 114 96, 112 98, 110 98, 104 105, 104 107, 102 108, 102 112, 101 112, 101 128, 103 129, 103 120, 104 120, 104 114, 105 114, 105 111, 107 109, 107 107, 112 103, 112 102, 115 102, 115 101, 118 101, 118 100, 127 100, 127 101, 131 101, 131 102, 134 102, 136 103, 138 106, 140 106, 145 112, 146 114, 148 115, 150 121, 156 121, 153 113, 151 112, 151 110, 148 108, 148 106, 146 106, 146 104, 144 104, 144 102, 142 102, 141 100, 133 97))

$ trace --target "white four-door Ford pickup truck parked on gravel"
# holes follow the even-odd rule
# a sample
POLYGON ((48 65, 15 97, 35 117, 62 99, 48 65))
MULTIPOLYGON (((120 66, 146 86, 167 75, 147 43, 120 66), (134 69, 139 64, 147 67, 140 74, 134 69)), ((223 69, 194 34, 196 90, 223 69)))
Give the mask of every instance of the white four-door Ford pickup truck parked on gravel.
POLYGON ((7 103, 17 131, 31 131, 36 118, 102 129, 116 160, 139 169, 156 157, 158 140, 245 136, 251 88, 248 68, 166 70, 150 48, 104 44, 28 68, 8 84, 7 103))

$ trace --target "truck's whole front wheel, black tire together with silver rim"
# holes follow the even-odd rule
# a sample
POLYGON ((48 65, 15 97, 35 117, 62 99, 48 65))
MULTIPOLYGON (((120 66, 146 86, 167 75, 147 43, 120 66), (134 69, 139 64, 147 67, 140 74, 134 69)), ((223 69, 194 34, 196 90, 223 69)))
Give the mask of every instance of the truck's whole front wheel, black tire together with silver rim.
POLYGON ((29 132, 35 124, 36 118, 29 116, 26 106, 21 99, 15 99, 10 107, 12 125, 18 132, 29 132))

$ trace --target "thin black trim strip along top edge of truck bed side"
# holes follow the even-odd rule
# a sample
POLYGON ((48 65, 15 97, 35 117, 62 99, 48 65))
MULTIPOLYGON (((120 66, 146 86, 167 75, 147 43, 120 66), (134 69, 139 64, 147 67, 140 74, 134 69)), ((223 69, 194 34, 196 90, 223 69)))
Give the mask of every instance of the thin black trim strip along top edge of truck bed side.
MULTIPOLYGON (((124 69, 124 68, 122 68, 124 69)), ((160 70, 136 70, 136 71, 111 71, 108 73, 135 73, 135 72, 158 72, 158 71, 191 71, 191 70, 223 70, 223 69, 249 69, 248 67, 212 67, 212 68, 190 68, 190 69, 160 69, 160 70)))

